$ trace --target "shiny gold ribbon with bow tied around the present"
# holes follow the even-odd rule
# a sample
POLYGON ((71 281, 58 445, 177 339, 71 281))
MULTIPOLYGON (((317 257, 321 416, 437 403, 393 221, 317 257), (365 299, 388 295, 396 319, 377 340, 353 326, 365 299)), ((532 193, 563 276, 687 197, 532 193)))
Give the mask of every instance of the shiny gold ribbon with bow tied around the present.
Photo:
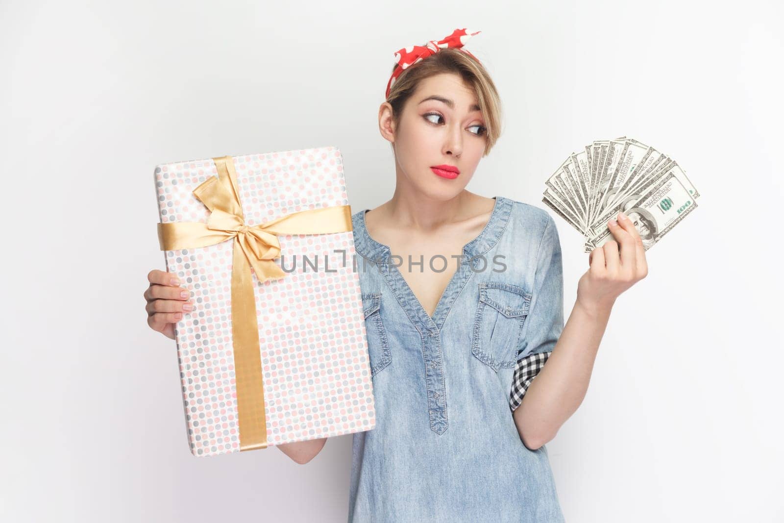
POLYGON ((218 176, 193 191, 210 211, 207 223, 158 223, 161 250, 194 249, 234 240, 231 269, 231 332, 240 450, 267 448, 267 416, 261 371, 259 324, 250 267, 260 282, 285 278, 274 259, 281 256, 278 234, 332 234, 352 231, 350 205, 292 212, 250 227, 245 223, 230 156, 212 158, 218 176))

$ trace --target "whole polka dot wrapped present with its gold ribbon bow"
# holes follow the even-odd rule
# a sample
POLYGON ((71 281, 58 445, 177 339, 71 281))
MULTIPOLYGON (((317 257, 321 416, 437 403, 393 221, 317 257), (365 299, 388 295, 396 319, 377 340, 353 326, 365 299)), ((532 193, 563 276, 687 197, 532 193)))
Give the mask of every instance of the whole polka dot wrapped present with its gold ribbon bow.
POLYGON ((194 456, 375 427, 343 161, 336 147, 155 168, 194 456))

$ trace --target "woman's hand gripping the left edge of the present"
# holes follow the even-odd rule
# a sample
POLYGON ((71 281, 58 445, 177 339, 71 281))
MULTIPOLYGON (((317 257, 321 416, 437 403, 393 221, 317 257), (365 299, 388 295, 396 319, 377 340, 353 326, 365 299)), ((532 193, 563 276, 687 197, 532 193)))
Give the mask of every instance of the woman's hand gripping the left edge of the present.
POLYGON ((180 278, 176 274, 153 269, 147 274, 150 286, 144 291, 144 300, 147 300, 147 325, 162 332, 174 340, 174 324, 183 318, 183 314, 190 314, 194 304, 188 298, 191 292, 180 287, 180 278))

